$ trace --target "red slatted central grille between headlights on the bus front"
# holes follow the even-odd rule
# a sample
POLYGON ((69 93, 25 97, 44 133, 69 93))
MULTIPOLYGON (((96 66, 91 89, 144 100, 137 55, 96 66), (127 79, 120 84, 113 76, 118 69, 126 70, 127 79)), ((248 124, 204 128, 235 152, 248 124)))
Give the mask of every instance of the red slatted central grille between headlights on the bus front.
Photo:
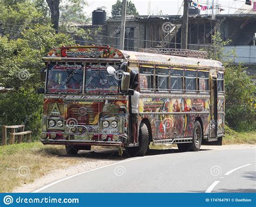
POLYGON ((76 119, 78 125, 97 125, 99 121, 99 103, 69 103, 67 113, 67 118, 76 119), (86 115, 79 115, 78 109, 80 107, 86 108, 86 115))

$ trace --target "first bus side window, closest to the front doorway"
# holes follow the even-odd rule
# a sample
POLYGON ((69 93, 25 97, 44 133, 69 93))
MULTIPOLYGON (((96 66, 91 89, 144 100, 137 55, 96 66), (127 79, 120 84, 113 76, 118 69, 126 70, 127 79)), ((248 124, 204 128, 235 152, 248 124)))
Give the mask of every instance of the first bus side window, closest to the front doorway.
POLYGON ((139 87, 140 91, 153 90, 154 68, 140 67, 139 68, 139 87))

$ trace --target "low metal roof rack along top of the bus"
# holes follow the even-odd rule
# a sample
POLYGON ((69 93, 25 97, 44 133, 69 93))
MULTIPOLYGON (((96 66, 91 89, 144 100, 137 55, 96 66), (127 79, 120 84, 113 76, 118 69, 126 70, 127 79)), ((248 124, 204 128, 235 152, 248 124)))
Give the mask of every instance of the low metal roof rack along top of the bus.
POLYGON ((183 57, 207 59, 207 52, 206 51, 198 51, 198 50, 169 49, 169 48, 145 48, 145 49, 139 49, 139 52, 167 54, 170 56, 183 56, 183 57))

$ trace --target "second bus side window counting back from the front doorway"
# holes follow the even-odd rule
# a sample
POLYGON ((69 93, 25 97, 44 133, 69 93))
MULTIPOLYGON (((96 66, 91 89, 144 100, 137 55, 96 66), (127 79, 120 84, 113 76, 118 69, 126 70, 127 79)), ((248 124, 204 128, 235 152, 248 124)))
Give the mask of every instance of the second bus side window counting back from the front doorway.
POLYGON ((157 91, 169 91, 169 69, 156 68, 156 89, 157 91))

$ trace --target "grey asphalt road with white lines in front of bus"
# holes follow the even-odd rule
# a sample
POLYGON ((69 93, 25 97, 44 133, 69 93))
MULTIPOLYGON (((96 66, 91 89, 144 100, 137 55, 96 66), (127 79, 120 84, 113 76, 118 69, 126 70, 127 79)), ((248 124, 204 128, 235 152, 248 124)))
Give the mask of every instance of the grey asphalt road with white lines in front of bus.
POLYGON ((81 172, 35 192, 256 192, 255 151, 151 150, 147 156, 81 172))

